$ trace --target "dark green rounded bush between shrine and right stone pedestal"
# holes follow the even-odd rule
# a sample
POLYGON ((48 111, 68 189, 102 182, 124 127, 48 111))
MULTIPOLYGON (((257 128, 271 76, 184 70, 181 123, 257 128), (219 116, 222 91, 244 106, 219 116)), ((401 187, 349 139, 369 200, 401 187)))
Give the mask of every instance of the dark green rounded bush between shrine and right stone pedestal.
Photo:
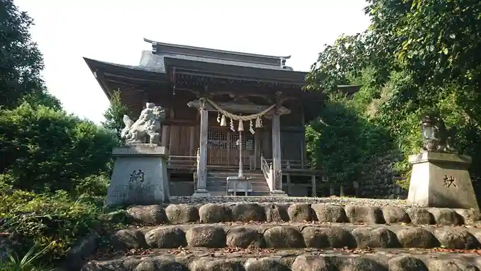
POLYGON ((306 150, 328 182, 359 181, 363 163, 392 147, 387 131, 363 117, 356 100, 329 94, 320 115, 306 127, 306 150))

